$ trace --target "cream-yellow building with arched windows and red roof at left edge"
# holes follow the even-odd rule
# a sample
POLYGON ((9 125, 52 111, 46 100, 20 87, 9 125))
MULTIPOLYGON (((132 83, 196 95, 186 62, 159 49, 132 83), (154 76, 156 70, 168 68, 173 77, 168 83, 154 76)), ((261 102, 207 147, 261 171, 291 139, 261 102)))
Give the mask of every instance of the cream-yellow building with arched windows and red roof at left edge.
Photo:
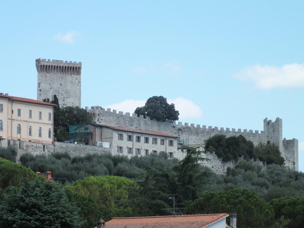
POLYGON ((8 140, 53 142, 54 104, 0 94, 0 136, 8 140))

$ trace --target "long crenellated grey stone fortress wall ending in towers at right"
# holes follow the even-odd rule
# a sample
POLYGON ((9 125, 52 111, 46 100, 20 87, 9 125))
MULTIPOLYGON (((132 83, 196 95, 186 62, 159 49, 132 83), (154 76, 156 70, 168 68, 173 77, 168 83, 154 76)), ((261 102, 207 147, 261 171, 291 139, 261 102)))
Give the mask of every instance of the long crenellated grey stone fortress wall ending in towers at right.
MULTIPOLYGON (((163 133, 171 134, 174 136, 178 136, 181 139, 189 139, 189 144, 202 144, 204 145, 204 140, 215 134, 224 134, 227 137, 229 136, 238 136, 242 135, 247 140, 251 140, 254 145, 257 145, 259 142, 262 143, 275 143, 279 147, 282 157, 285 159, 285 165, 293 168, 295 170, 299 170, 299 162, 298 162, 298 140, 284 140, 282 139, 282 119, 276 118, 274 122, 264 119, 264 130, 247 130, 244 129, 234 129, 223 127, 212 127, 203 125, 194 125, 184 123, 182 125, 181 122, 173 123, 169 122, 159 122, 156 120, 151 120, 149 117, 143 118, 143 116, 137 117, 137 114, 133 113, 132 116, 129 112, 123 113, 116 110, 111 109, 103 109, 101 106, 92 106, 91 109, 86 107, 86 110, 92 114, 94 121, 98 124, 104 124, 109 126, 123 126, 134 129, 142 129, 142 130, 152 130, 152 131, 160 131, 163 133)), ((208 153, 207 153, 208 154, 208 153)), ((213 155, 207 155, 213 156, 213 155)), ((218 162, 213 162, 211 164, 213 170, 218 168, 218 162), (216 167, 215 167, 216 166, 216 167)), ((209 165, 208 165, 209 166, 209 165)), ((223 167, 226 167, 223 164, 223 167)), ((217 171, 217 173, 221 173, 221 171, 217 171)))

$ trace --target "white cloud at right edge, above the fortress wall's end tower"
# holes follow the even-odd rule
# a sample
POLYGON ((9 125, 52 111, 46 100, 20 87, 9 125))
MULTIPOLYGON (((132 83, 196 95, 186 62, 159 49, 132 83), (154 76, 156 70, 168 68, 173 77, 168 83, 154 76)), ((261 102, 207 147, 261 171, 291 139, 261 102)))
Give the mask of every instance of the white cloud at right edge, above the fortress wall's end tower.
POLYGON ((258 89, 304 87, 304 64, 254 65, 241 69, 235 77, 253 81, 258 89))

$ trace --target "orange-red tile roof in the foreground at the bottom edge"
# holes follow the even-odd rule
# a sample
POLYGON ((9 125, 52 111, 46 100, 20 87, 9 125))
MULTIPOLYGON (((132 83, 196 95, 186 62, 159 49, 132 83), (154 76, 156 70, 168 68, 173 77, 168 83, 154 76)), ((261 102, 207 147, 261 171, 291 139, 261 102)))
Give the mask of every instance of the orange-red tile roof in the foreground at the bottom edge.
MULTIPOLYGON (((106 228, 203 228, 229 216, 227 213, 209 215, 178 215, 113 218, 106 228)), ((226 224, 226 223, 225 223, 226 224)))

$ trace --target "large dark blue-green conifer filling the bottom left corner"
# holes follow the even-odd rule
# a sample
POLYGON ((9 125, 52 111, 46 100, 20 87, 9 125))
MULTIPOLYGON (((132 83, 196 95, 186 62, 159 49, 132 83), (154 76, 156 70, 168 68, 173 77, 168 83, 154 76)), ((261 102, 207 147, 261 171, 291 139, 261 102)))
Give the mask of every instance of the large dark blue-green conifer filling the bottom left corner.
POLYGON ((64 188, 52 182, 25 181, 10 187, 0 204, 1 227, 77 228, 78 209, 69 204, 64 188))

